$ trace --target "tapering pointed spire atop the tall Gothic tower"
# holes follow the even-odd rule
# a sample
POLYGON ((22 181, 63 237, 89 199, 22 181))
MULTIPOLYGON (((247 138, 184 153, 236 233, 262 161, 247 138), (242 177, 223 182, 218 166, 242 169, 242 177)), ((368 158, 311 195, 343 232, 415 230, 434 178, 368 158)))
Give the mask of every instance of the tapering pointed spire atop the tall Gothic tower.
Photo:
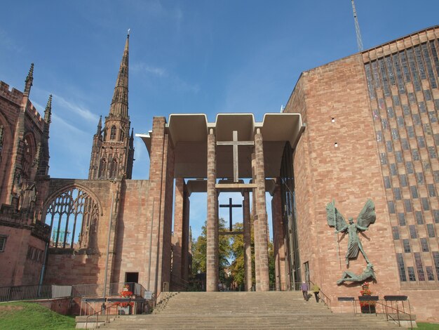
POLYGON ((110 107, 110 116, 128 117, 128 53, 130 46, 130 34, 126 37, 125 49, 119 67, 119 74, 114 87, 112 105, 110 107))

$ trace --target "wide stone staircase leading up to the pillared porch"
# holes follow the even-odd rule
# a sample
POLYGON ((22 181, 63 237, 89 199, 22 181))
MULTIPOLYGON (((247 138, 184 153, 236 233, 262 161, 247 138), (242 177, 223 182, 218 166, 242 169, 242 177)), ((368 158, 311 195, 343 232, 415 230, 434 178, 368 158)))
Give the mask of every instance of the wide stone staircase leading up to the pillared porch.
POLYGON ((168 293, 151 315, 126 315, 101 329, 386 329, 382 315, 332 314, 302 292, 168 293))

